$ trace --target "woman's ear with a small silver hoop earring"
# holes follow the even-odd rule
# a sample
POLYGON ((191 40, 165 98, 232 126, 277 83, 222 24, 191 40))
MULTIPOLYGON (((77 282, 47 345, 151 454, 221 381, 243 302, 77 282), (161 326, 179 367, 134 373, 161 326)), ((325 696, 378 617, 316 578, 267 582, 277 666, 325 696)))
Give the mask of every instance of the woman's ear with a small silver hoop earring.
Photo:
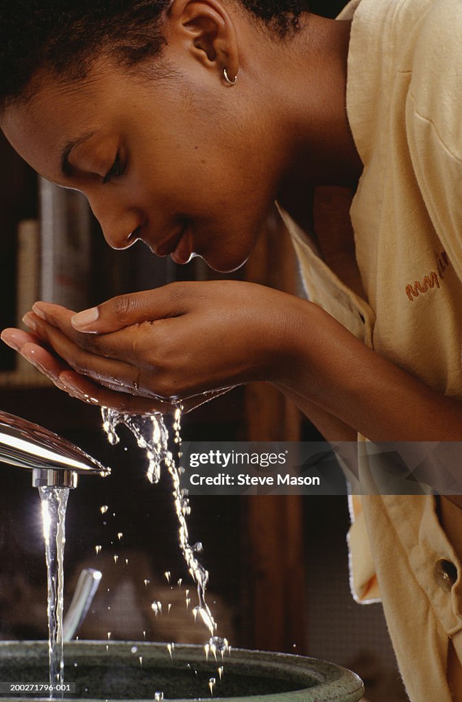
POLYGON ((237 33, 220 0, 174 0, 167 15, 167 41, 180 41, 183 49, 204 67, 223 78, 239 71, 237 33))

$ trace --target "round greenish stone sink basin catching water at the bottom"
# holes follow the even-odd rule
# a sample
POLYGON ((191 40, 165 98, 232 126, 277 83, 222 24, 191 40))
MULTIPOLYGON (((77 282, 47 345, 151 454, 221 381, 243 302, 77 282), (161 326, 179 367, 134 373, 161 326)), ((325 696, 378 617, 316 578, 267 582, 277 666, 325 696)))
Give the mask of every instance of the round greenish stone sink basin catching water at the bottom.
MULTIPOLYGON (((315 658, 232 649, 223 663, 204 648, 176 644, 171 657, 166 644, 77 641, 65 644, 65 682, 76 694, 65 699, 149 701, 164 693, 176 702, 211 699, 227 702, 357 702, 364 688, 350 670, 315 658), (141 657, 141 662, 140 662, 141 657), (75 665, 77 663, 77 665, 75 665), (218 668, 223 665, 220 681, 218 668)), ((47 642, 1 642, 0 682, 48 682, 47 642)), ((1 700, 49 698, 15 692, 1 700)), ((55 698, 59 699, 58 693, 55 698)))

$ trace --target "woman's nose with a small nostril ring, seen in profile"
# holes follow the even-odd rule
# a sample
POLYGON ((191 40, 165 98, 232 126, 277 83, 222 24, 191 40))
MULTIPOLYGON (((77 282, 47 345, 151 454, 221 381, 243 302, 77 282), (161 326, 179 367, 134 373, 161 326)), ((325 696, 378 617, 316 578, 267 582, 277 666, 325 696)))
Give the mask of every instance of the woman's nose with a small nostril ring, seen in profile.
POLYGON ((140 239, 142 217, 136 210, 127 208, 115 199, 88 197, 88 201, 112 249, 128 249, 140 239))

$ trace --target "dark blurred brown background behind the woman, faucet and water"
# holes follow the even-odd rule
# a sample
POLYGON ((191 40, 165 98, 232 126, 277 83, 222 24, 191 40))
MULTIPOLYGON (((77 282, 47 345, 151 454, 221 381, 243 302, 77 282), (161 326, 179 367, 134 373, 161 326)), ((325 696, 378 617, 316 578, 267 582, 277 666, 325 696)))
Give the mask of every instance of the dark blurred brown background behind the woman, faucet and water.
MULTIPOLYGON (((310 3, 312 11, 331 17, 343 5, 310 3)), ((146 256, 140 243, 112 251, 81 197, 39 180, 3 136, 0 159, 2 329, 20 325, 37 299, 80 310, 173 280, 230 277, 211 272, 197 258, 180 267, 146 256)), ((349 226, 351 198, 341 188, 308 194, 315 228, 328 228, 332 238, 341 234, 349 226)), ((233 276, 303 295, 277 213, 268 218, 246 267, 233 276)), ((98 408, 55 390, 4 345, 0 409, 58 432, 112 467, 107 479, 81 478, 67 510, 65 602, 84 567, 103 572, 79 637, 106 639, 110 632, 111 639, 205 642, 205 628, 194 625, 185 606, 186 590, 192 607, 195 593, 178 548, 169 475, 151 485, 143 453, 128 432, 121 444, 110 446, 98 408), (161 616, 152 611, 154 600, 162 603, 161 616)), ((235 388, 184 416, 182 437, 322 438, 265 383, 235 388)), ((39 496, 29 474, 0 466, 0 639, 43 639, 46 571, 39 496)), ((234 647, 308 654, 347 665, 362 676, 371 702, 406 699, 381 606, 362 607, 350 595, 346 498, 194 497, 191 507, 191 543, 204 545, 208 602, 219 635, 234 647)))

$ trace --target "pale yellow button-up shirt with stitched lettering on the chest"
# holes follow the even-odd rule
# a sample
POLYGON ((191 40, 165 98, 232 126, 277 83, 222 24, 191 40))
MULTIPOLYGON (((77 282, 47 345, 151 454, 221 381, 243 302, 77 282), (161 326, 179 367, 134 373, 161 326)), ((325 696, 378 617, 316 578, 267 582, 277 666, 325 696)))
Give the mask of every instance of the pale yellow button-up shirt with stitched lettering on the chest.
MULTIPOLYGON (((383 357, 462 399, 462 2, 352 0, 339 19, 352 19, 347 110, 364 171, 350 215, 367 299, 283 213, 308 297, 383 357)), ((450 702, 449 637, 462 661, 461 564, 435 500, 360 499, 349 534, 355 598, 381 597, 411 701, 450 702)))

